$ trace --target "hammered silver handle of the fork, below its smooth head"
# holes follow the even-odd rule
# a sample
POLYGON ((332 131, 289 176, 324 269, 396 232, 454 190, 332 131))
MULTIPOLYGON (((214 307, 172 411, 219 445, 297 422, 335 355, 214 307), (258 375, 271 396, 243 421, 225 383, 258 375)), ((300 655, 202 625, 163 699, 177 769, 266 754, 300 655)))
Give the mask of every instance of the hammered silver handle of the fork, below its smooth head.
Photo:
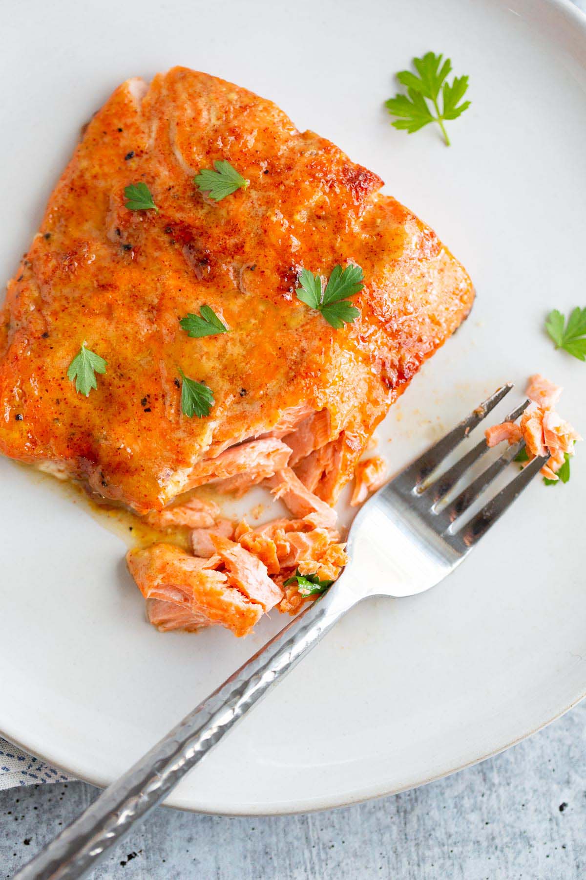
POLYGON ((344 590, 345 576, 112 782, 14 880, 71 880, 93 869, 355 604, 344 590))

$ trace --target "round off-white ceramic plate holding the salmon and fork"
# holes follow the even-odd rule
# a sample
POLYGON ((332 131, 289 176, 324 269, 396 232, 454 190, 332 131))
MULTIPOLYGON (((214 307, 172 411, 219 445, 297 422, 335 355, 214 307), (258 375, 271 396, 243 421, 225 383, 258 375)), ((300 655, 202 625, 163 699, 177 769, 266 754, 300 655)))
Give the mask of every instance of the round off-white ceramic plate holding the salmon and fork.
MULTIPOLYGON (((586 433, 586 364, 542 329, 551 308, 586 304, 586 19, 570 4, 23 0, 0 18, 4 278, 92 111, 123 79, 182 63, 274 99, 380 172, 473 276, 472 317, 384 425, 395 470, 535 370, 566 387, 561 411, 586 433), (449 150, 433 128, 395 131, 382 108, 394 72, 430 48, 470 76, 449 150)), ((52 480, 2 460, 0 481, 0 730, 103 785, 286 620, 244 641, 158 634, 117 535, 52 480)), ((585 495, 580 449, 567 486, 536 481, 437 589, 351 613, 170 803, 352 803, 486 757, 580 700, 585 495)))

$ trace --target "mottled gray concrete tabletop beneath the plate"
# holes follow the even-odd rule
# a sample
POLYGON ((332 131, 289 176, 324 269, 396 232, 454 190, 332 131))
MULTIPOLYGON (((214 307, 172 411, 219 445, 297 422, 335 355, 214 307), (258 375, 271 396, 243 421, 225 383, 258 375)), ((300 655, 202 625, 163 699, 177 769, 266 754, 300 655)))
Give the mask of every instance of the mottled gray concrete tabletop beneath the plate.
MULTIPOLYGON (((197 772, 197 771, 196 771, 197 772)), ((0 792, 0 880, 98 795, 0 792)), ((92 880, 573 880, 586 876, 586 702, 494 759, 344 810, 279 818, 161 807, 92 880)))

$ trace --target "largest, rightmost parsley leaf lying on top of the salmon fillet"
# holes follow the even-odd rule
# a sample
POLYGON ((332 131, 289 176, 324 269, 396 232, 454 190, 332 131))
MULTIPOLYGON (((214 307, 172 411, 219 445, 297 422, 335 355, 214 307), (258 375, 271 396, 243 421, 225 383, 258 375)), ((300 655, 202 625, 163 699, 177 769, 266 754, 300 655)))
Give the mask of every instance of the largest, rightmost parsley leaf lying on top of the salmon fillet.
POLYGON ((325 290, 322 290, 322 278, 308 269, 301 269, 300 287, 295 290, 297 298, 317 312, 322 312, 329 325, 340 330, 344 324, 351 324, 360 314, 355 305, 347 302, 363 289, 364 278, 359 266, 335 266, 329 276, 325 290))

